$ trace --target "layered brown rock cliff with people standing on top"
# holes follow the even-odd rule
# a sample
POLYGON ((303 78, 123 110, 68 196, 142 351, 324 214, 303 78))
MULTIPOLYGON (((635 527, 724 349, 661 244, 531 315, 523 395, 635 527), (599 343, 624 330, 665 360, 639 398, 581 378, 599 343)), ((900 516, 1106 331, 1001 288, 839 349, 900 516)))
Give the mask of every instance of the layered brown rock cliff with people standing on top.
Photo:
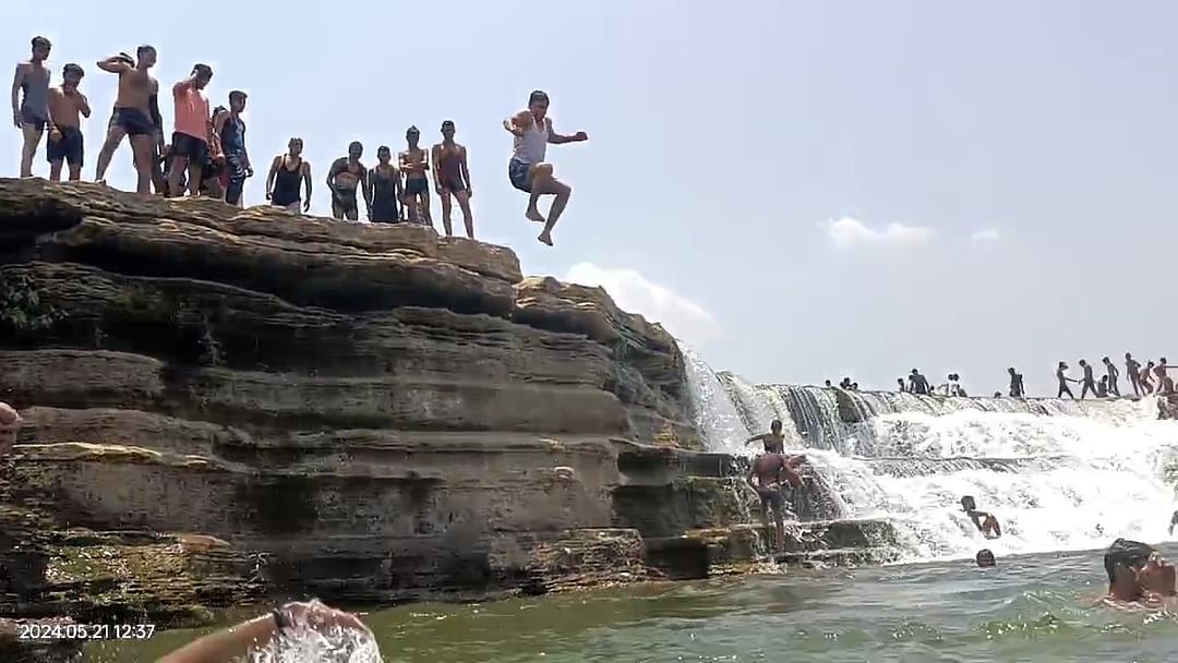
POLYGON ((0 617, 702 577, 755 538, 664 330, 422 227, 0 180, 0 617))

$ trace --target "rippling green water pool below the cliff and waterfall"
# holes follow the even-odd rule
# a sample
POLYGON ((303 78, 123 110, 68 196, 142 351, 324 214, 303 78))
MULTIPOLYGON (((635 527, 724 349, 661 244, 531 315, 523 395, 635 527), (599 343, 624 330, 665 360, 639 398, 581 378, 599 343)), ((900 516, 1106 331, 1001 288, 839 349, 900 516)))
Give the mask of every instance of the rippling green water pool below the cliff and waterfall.
MULTIPOLYGON (((1167 551, 1174 558, 1176 549, 1167 551)), ((859 570, 790 571, 368 615, 386 661, 878 662, 1178 658, 1178 617, 1094 604, 1100 551, 859 570)), ((193 637, 98 645, 150 662, 193 637)))

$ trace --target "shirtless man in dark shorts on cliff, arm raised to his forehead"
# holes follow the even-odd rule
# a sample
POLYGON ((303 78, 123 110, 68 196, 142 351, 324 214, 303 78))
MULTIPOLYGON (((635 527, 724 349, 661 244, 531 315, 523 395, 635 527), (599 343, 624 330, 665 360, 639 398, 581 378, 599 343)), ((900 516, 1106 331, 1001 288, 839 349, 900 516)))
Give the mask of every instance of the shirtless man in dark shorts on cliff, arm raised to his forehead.
POLYGON ((138 60, 132 61, 126 53, 119 53, 98 62, 98 68, 104 72, 119 74, 119 92, 114 98, 106 141, 98 153, 94 180, 105 184, 106 168, 126 135, 131 138, 139 175, 135 191, 146 195, 151 193, 152 175, 158 168, 155 147, 163 148, 164 130, 159 118, 159 82, 150 73, 155 66, 155 49, 140 46, 135 57, 138 60))

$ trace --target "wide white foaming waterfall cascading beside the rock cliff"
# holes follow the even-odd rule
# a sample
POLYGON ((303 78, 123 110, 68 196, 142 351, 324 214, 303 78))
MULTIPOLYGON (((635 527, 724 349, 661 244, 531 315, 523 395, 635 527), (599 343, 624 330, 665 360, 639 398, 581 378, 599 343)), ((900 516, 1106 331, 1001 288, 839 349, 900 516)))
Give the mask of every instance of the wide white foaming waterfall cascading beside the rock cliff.
POLYGON ((949 398, 754 385, 714 373, 693 356, 696 420, 709 447, 768 430, 794 435, 839 515, 886 518, 905 561, 1103 548, 1118 536, 1158 542, 1174 509, 1164 480, 1178 458, 1178 422, 1157 402, 949 398), (722 393, 714 390, 719 386, 722 393), (717 417, 721 424, 709 423, 717 417), (713 430, 728 437, 713 437, 713 430), (790 432, 792 431, 792 432, 790 432), (801 436, 805 433, 805 437, 801 436), (719 442, 716 442, 719 440, 719 442), (959 500, 993 512, 1002 537, 987 541, 959 500))

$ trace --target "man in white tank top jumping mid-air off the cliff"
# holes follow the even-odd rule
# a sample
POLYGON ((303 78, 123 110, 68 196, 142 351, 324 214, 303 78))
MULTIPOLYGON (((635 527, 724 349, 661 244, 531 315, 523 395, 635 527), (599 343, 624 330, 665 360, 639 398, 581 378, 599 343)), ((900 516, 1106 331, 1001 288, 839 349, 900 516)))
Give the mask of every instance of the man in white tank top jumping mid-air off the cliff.
POLYGON ((557 180, 552 174, 552 165, 544 161, 548 144, 582 142, 589 140, 589 137, 583 131, 573 135, 561 135, 552 128, 552 120, 547 115, 548 93, 536 89, 528 99, 527 108, 503 120, 503 128, 515 137, 511 159, 508 161, 508 179, 511 186, 530 195, 524 217, 544 224, 544 230, 536 239, 551 246, 552 228, 569 204, 573 187, 557 180), (536 208, 541 195, 556 197, 548 211, 548 220, 536 208))

